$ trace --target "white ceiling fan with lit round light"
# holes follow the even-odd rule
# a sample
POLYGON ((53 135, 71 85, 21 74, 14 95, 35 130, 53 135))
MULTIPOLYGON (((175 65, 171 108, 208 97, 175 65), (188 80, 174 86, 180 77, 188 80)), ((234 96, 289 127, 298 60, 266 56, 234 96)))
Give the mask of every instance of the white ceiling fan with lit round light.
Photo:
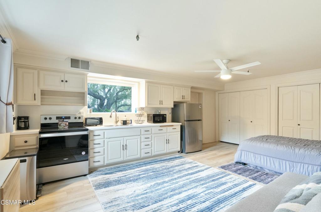
POLYGON ((230 62, 230 60, 221 60, 221 59, 214 59, 214 62, 221 68, 221 71, 195 71, 195 72, 221 72, 220 74, 214 76, 214 77, 221 77, 221 79, 230 79, 231 74, 243 74, 243 75, 250 75, 252 73, 244 72, 244 71, 237 71, 242 68, 247 68, 251 66, 260 65, 261 63, 256 61, 254 63, 248 63, 242 66, 236 66, 234 68, 229 68, 227 64, 230 62))

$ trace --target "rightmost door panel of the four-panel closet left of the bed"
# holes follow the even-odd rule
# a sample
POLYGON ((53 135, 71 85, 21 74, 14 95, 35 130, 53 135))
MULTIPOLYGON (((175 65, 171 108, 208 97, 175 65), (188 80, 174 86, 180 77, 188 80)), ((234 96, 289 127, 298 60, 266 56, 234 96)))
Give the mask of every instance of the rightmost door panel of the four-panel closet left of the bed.
POLYGON ((253 137, 267 134, 267 89, 254 90, 253 93, 253 137))

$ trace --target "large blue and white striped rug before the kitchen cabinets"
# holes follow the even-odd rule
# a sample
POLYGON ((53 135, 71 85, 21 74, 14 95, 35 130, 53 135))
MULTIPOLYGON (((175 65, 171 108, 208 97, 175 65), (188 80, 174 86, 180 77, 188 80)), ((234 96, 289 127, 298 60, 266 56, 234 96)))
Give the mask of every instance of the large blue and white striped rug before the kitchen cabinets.
POLYGON ((92 172, 104 211, 224 211, 262 186, 170 156, 92 172))

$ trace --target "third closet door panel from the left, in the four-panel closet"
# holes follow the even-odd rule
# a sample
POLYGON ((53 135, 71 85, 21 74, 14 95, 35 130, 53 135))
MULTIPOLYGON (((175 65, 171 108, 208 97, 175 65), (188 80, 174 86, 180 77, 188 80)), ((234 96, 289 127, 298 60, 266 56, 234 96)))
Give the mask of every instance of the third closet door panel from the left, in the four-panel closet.
POLYGON ((240 92, 240 142, 252 137, 252 91, 240 92))

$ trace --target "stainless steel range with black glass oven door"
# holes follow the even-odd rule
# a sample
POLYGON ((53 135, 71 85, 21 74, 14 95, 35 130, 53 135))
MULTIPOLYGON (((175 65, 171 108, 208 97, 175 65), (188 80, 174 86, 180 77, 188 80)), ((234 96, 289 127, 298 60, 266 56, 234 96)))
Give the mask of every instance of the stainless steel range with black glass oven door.
POLYGON ((83 115, 41 115, 37 184, 88 174, 88 128, 83 115), (68 128, 58 128, 58 120, 68 128))

